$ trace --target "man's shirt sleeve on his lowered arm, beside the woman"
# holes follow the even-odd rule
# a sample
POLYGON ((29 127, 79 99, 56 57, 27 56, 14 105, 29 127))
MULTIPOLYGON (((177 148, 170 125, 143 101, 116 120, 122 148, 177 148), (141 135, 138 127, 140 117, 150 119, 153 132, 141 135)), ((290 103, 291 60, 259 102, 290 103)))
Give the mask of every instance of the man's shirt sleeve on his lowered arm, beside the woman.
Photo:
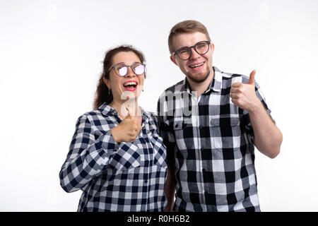
POLYGON ((167 148, 167 164, 175 165, 175 137, 170 131, 169 123, 167 122, 167 117, 165 116, 165 107, 166 102, 162 98, 158 100, 158 129, 159 134, 163 138, 163 144, 167 148))

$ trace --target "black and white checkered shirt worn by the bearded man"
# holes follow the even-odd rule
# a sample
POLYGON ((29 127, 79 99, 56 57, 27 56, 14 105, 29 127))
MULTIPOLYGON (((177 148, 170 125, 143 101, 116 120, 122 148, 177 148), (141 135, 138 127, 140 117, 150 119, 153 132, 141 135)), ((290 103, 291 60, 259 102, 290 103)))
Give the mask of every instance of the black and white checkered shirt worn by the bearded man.
POLYGON ((184 79, 167 88, 158 102, 167 163, 175 167, 174 209, 260 211, 249 114, 230 100, 232 83, 248 83, 249 78, 213 69, 213 81, 201 96, 184 79))

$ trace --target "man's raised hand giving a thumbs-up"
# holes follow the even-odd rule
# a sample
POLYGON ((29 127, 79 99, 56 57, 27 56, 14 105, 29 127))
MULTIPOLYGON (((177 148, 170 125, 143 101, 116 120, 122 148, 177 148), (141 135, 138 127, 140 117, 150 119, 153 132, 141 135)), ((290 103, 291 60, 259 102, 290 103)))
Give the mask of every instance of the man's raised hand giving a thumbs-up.
POLYGON ((233 104, 247 111, 252 111, 261 104, 261 101, 255 93, 255 73, 255 70, 250 73, 249 83, 233 83, 230 89, 230 97, 232 98, 233 104))

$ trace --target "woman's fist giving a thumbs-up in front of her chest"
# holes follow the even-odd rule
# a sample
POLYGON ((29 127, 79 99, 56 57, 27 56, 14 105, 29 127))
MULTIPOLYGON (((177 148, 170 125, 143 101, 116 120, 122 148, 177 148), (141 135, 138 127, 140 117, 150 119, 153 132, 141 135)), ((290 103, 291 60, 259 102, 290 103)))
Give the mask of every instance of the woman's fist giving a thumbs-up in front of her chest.
POLYGON ((110 132, 116 143, 134 142, 141 129, 141 125, 138 124, 128 112, 126 118, 124 118, 118 126, 112 128, 110 132))

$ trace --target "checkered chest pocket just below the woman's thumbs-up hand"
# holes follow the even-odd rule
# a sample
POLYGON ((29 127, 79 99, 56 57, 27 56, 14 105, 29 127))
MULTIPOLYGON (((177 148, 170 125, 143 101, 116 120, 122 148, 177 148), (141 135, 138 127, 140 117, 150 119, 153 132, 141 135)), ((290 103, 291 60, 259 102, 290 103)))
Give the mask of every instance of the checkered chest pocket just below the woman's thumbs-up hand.
POLYGON ((110 165, 117 170, 128 170, 140 167, 141 155, 138 145, 135 143, 122 142, 119 149, 112 156, 110 165))

